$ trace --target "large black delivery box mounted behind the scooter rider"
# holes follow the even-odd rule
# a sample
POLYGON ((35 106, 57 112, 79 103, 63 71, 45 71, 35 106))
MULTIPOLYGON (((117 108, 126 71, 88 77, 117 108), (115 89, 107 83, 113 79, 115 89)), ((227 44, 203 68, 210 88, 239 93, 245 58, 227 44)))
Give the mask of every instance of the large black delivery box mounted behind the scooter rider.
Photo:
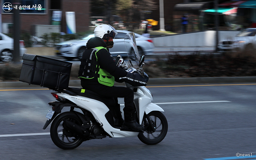
POLYGON ((72 63, 24 54, 20 81, 51 89, 67 89, 72 63))

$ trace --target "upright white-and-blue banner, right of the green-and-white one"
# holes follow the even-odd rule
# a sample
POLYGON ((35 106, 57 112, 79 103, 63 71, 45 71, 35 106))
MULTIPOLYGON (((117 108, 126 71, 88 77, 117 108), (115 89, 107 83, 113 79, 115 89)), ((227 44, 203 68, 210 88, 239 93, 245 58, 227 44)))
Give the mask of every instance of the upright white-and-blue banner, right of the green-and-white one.
POLYGON ((76 33, 75 12, 66 12, 67 34, 76 33))

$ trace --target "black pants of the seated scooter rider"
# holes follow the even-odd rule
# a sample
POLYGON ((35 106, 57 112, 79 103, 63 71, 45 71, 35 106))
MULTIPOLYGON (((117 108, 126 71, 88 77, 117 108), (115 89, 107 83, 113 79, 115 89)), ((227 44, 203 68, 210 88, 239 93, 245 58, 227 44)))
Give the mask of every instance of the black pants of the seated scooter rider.
MULTIPOLYGON (((90 82, 81 81, 81 86, 86 89, 93 91, 101 96, 114 97, 115 99, 124 98, 124 115, 134 114, 136 109, 133 105, 133 90, 126 87, 108 87, 101 84, 90 84, 90 82)), ((116 102, 117 103, 117 102, 116 102)))

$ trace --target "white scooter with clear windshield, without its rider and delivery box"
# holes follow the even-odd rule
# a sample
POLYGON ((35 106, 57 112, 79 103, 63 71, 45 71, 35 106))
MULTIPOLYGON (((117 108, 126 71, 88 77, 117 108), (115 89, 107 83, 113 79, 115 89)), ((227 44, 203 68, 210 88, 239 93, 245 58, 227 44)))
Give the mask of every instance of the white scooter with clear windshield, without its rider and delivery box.
MULTIPOLYGON (((125 37, 125 46, 128 51, 129 72, 138 72, 147 76, 142 70, 144 56, 139 60, 134 33, 125 37), (137 67, 136 67, 137 65, 137 67)), ((117 57, 117 65, 126 65, 121 56, 117 57)), ((83 141, 101 139, 105 137, 135 137, 147 145, 155 145, 162 141, 168 130, 168 123, 164 111, 152 103, 151 92, 145 86, 126 87, 134 91, 134 104, 137 110, 137 122, 144 125, 143 131, 133 131, 116 127, 114 117, 108 107, 102 102, 101 97, 92 95, 82 88, 69 87, 67 90, 55 90, 51 94, 58 100, 50 102, 52 110, 46 115, 45 129, 51 122, 51 138, 55 145, 61 149, 74 149, 83 141), (69 111, 61 113, 64 107, 69 111), (75 109, 79 110, 76 111, 75 109)))

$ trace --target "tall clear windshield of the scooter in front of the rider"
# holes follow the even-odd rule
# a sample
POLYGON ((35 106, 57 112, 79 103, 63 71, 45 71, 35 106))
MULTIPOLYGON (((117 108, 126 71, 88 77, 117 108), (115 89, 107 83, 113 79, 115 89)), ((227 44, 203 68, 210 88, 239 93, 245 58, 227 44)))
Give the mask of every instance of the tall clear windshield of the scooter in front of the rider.
POLYGON ((128 56, 128 61, 132 63, 133 66, 129 63, 130 67, 139 67, 139 52, 136 44, 135 35, 133 32, 127 33, 124 37, 125 48, 128 56))

